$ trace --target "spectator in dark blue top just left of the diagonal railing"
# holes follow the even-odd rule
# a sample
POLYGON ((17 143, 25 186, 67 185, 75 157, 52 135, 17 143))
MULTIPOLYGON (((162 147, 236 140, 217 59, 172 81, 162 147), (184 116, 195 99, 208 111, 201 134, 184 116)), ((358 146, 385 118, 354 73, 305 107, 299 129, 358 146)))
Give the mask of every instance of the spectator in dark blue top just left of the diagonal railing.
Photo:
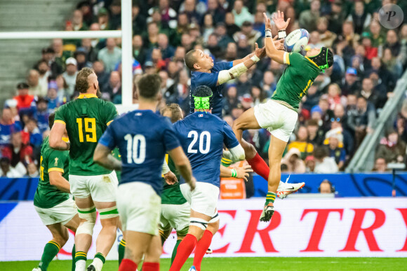
POLYGON ((375 108, 368 104, 365 97, 360 96, 357 99, 356 109, 348 112, 347 125, 355 133, 355 144, 358 148, 366 133, 373 131, 373 125, 376 120, 375 108))

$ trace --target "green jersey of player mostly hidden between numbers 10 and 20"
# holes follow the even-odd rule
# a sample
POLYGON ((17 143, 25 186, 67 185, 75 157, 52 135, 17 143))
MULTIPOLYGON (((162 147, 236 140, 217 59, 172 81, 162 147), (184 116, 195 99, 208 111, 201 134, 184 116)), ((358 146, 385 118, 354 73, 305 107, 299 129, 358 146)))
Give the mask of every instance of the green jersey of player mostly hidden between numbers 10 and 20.
MULTIPOLYGON (((177 176, 178 181, 180 180, 180 172, 178 172, 177 167, 175 167, 175 164, 173 160, 169 157, 168 154, 166 154, 166 162, 168 164, 168 167, 170 168, 171 172, 177 176)), ((180 183, 175 183, 173 185, 169 185, 166 183, 165 179, 163 178, 164 182, 164 188, 163 188, 163 193, 161 193, 161 204, 175 204, 175 205, 180 205, 184 204, 187 202, 185 200, 185 197, 181 193, 180 189, 180 183)))

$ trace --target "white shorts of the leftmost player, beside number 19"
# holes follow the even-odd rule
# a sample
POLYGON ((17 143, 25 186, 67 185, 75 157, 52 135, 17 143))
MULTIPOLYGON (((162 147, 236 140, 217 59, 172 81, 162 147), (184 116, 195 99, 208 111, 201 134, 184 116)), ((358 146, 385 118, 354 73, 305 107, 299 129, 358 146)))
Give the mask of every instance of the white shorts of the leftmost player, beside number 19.
POLYGON ((40 208, 36 206, 34 206, 34 208, 44 225, 52 225, 56 223, 62 223, 62 225, 65 225, 71 221, 76 214, 78 214, 75 202, 71 198, 51 208, 40 208))

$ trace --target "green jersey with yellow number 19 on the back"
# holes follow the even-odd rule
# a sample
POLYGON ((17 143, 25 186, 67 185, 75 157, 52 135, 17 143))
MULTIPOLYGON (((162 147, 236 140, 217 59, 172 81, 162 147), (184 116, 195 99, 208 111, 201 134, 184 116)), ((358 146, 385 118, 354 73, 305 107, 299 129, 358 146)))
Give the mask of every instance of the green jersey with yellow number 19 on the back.
POLYGON ((103 132, 117 116, 111 102, 99 99, 93 94, 81 94, 78 99, 64 104, 55 113, 55 123, 64 123, 71 148, 69 150, 69 174, 96 176, 109 174, 93 162, 93 152, 103 132))

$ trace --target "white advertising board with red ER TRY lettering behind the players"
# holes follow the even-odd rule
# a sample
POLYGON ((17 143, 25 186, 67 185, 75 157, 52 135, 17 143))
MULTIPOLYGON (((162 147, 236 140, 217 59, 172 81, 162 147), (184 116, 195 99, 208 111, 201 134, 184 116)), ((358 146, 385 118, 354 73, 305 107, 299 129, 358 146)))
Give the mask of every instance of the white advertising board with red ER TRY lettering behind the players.
MULTIPOLYGON (((407 200, 323 198, 277 200, 272 223, 259 221, 264 200, 220 200, 220 230, 211 257, 335 256, 406 257, 407 200)), ((98 219, 93 236, 100 232, 98 219)), ((59 259, 70 259, 72 232, 59 259)), ((0 260, 39 260, 51 233, 32 202, 0 203, 0 260)), ((116 245, 121 235, 118 233, 116 245)), ((88 255, 95 253, 95 238, 88 255)), ((171 256, 173 232, 164 244, 171 256)), ((117 258, 116 245, 107 259, 117 258)))

